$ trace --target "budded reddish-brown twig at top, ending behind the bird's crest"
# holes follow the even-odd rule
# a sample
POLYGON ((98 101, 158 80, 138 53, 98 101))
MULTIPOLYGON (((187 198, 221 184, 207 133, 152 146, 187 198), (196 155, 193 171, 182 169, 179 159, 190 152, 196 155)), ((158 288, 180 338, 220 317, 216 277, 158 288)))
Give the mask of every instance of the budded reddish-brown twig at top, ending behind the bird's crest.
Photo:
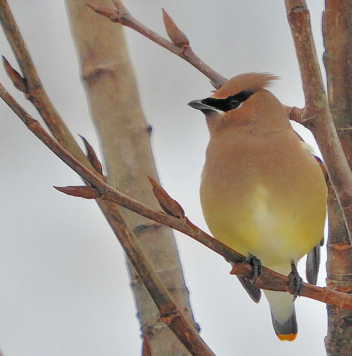
POLYGON ((211 80, 211 84, 215 88, 220 88, 221 85, 226 82, 226 78, 222 77, 222 75, 217 73, 214 69, 210 68, 198 56, 196 56, 191 47, 188 45, 187 37, 183 32, 178 30, 177 26, 172 21, 170 16, 166 14, 166 12, 163 12, 164 19, 166 19, 164 24, 167 28, 168 35, 174 43, 166 40, 164 37, 158 35, 156 32, 152 31, 150 28, 144 26, 142 23, 136 20, 130 14, 130 12, 128 12, 120 0, 114 0, 113 2, 117 10, 110 9, 109 7, 97 6, 94 4, 87 5, 98 14, 110 19, 112 22, 119 22, 121 25, 132 28, 133 30, 141 33, 141 35, 149 38, 149 40, 158 43, 158 45, 185 59, 188 63, 197 68, 206 77, 208 77, 211 80))

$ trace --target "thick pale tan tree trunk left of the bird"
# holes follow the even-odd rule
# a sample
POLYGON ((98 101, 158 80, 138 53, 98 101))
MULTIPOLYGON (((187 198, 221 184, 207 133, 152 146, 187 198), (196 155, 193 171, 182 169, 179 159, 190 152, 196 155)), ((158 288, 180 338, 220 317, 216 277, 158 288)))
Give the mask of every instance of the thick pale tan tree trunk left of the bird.
MULTIPOLYGON (((151 128, 141 110, 122 28, 96 14, 84 0, 67 0, 66 4, 91 117, 101 142, 107 182, 160 209, 147 178, 157 180, 151 128)), ((114 7, 109 0, 98 1, 96 5, 114 7)), ((174 300, 194 323, 172 230, 123 208, 121 213, 174 300)), ((129 270, 143 337, 152 355, 188 354, 160 322, 153 300, 130 265, 129 270)))

